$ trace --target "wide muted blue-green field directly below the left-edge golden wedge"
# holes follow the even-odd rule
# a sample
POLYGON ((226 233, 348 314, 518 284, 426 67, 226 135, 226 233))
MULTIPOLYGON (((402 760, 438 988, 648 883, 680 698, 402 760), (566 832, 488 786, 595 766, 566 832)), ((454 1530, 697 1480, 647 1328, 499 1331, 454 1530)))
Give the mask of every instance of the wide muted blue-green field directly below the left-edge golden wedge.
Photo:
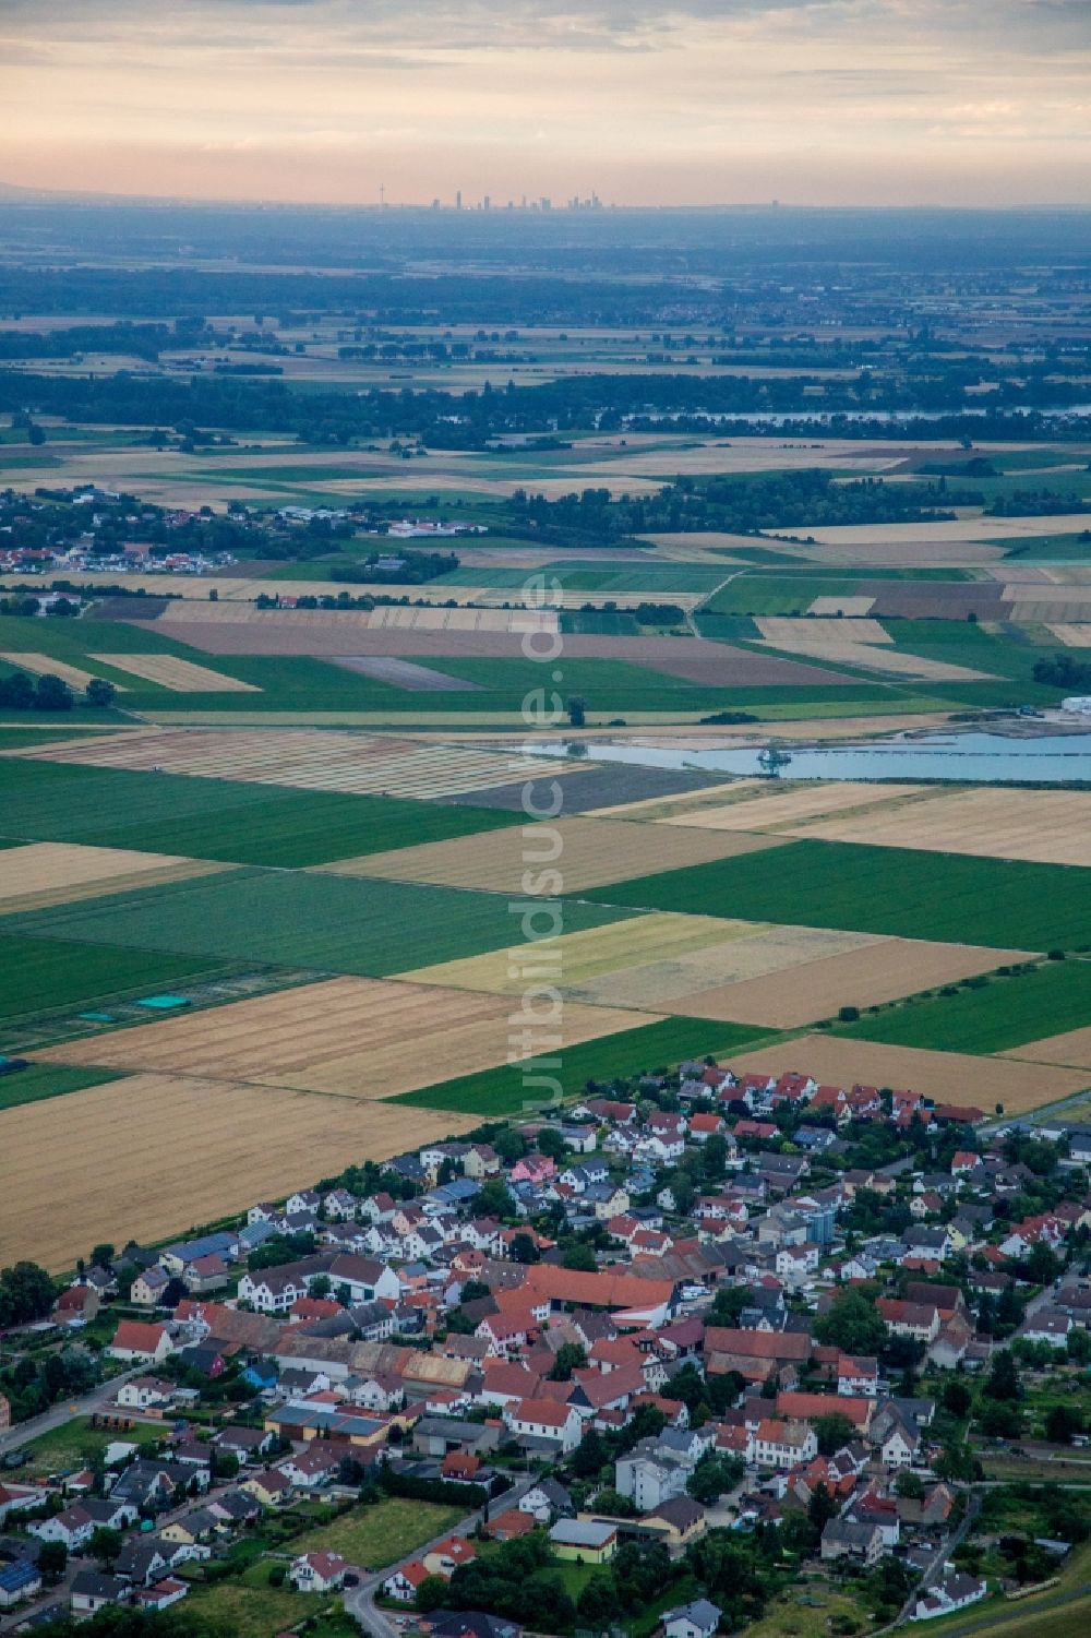
MULTIPOLYGON (((573 904, 568 932, 631 911, 573 904)), ((11 916, 7 927, 44 939, 170 950, 213 960, 270 962, 382 976, 503 948, 519 922, 498 893, 236 870, 11 916)))

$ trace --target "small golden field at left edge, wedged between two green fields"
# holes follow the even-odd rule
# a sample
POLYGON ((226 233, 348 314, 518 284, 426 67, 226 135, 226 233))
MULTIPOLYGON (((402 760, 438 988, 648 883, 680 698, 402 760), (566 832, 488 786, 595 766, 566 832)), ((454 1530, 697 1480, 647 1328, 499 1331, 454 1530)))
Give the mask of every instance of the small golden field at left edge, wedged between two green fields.
POLYGON ((154 888, 164 881, 208 876, 231 865, 177 853, 138 853, 126 847, 84 847, 77 842, 29 842, 0 848, 0 909, 39 911, 103 893, 154 888))

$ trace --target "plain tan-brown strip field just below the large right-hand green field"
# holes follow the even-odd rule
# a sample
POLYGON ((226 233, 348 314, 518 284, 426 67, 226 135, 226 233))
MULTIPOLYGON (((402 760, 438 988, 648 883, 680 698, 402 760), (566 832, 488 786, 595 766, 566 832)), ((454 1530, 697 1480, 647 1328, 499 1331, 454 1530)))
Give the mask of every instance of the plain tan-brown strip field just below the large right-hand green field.
POLYGON ((873 1007, 898 1001, 935 984, 958 983, 973 973, 991 973, 1003 962, 1024 962, 1027 955, 1025 950, 983 950, 970 943, 876 939, 855 950, 808 957, 765 978, 696 991, 677 1011, 701 1019, 796 1029, 834 1017, 842 1006, 873 1007))

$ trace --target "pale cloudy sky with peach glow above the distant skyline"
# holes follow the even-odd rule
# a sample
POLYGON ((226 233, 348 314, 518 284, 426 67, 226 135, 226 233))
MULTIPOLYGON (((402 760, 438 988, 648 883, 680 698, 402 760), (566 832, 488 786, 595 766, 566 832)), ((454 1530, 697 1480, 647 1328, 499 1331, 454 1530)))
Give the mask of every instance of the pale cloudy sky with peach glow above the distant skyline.
POLYGON ((0 183, 1091 203, 1091 0, 0 0, 0 183))

